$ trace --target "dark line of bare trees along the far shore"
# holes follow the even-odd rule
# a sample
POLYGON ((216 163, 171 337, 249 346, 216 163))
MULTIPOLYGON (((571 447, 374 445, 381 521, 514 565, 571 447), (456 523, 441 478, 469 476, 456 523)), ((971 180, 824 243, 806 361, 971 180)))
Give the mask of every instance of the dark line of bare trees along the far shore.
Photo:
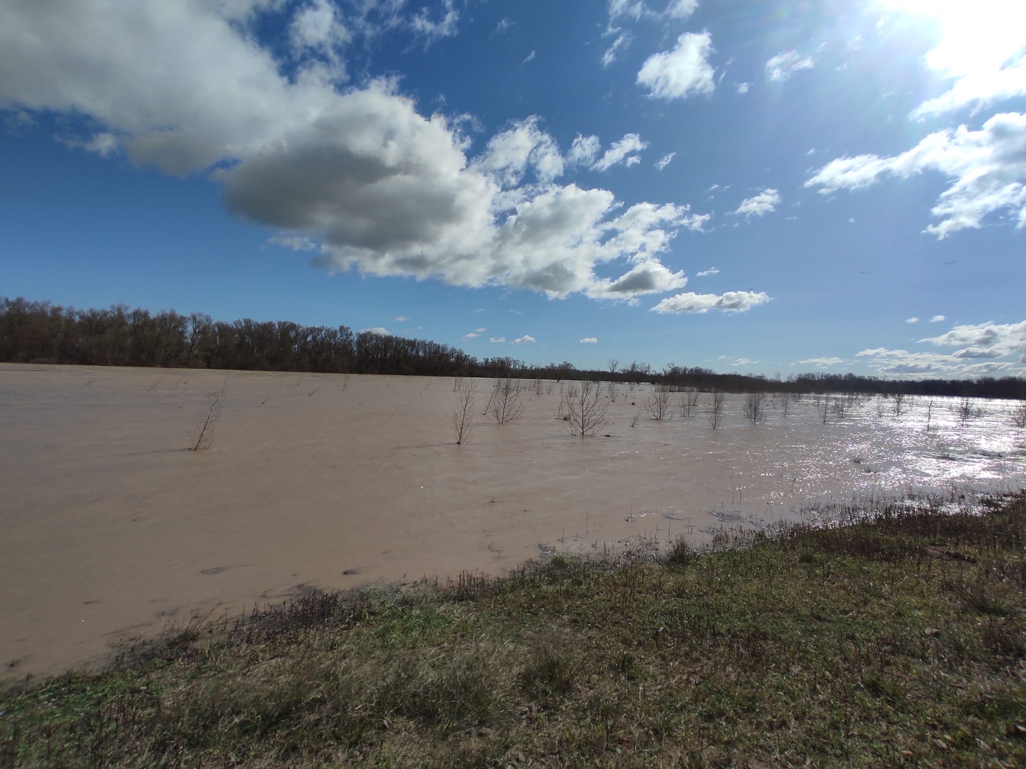
POLYGON ((155 366, 422 376, 516 376, 654 382, 674 389, 735 393, 867 393, 1026 399, 1026 379, 883 379, 853 373, 802 373, 786 379, 670 364, 655 370, 609 361, 602 370, 569 361, 528 365, 510 357, 477 358, 427 339, 354 332, 347 326, 288 321, 233 323, 202 313, 151 314, 125 305, 76 310, 48 301, 0 297, 0 361, 92 366, 155 366))

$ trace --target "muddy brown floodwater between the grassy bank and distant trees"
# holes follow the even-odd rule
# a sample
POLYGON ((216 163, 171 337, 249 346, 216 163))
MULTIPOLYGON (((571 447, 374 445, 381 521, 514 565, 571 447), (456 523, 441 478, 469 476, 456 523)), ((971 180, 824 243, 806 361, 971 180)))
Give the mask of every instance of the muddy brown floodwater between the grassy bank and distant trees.
MULTIPOLYGON (((621 385, 595 438, 558 382, 455 444, 451 378, 0 365, 0 679, 94 664, 119 643, 304 586, 501 574, 543 551, 696 545, 824 499, 1026 485, 1013 404, 885 399, 822 415, 779 399, 753 426, 655 421, 621 385), (207 451, 197 413, 225 387, 207 451), (636 427, 633 418, 641 412, 636 427)), ((680 394, 674 394, 677 401, 680 394)))

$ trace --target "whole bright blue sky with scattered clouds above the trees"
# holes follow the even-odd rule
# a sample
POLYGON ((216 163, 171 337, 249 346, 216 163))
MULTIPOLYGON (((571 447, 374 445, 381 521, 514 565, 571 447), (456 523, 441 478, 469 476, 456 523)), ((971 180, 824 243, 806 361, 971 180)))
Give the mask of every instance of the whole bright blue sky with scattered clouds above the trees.
POLYGON ((13 0, 0 294, 1026 372, 1019 0, 13 0))

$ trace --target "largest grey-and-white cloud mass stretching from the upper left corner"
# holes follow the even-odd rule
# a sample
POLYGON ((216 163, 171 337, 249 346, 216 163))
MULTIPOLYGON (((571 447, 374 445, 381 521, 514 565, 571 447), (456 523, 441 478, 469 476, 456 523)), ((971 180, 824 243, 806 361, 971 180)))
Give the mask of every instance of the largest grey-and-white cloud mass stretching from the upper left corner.
MULTIPOLYGON (((311 45, 370 35, 371 11, 353 11, 343 28, 340 6, 328 7, 330 23, 325 7, 8 3, 0 11, 0 109, 85 118, 137 166, 205 173, 234 215, 323 243, 314 264, 328 271, 551 297, 630 299, 630 285, 679 285, 661 256, 708 214, 647 202, 625 210, 608 190, 560 185, 567 160, 537 117, 468 156, 464 121, 422 114, 398 80, 341 87, 337 68, 311 45), (291 13, 286 28, 311 51, 294 54, 287 76, 247 32, 270 10, 276 22, 291 13), (599 268, 620 277, 599 277, 599 268)), ((377 4, 374 18, 426 42, 456 32, 450 0, 412 15, 403 7, 377 4)), ((578 157, 587 160, 592 146, 582 138, 578 157)), ((636 157, 635 146, 622 162, 636 157)))

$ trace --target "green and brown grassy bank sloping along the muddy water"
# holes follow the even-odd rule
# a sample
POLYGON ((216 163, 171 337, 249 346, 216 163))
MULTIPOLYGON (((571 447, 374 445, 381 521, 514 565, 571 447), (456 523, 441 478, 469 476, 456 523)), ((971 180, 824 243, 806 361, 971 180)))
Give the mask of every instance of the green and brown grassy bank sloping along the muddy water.
POLYGON ((185 628, 0 766, 1026 766, 1026 498, 720 539, 185 628))

